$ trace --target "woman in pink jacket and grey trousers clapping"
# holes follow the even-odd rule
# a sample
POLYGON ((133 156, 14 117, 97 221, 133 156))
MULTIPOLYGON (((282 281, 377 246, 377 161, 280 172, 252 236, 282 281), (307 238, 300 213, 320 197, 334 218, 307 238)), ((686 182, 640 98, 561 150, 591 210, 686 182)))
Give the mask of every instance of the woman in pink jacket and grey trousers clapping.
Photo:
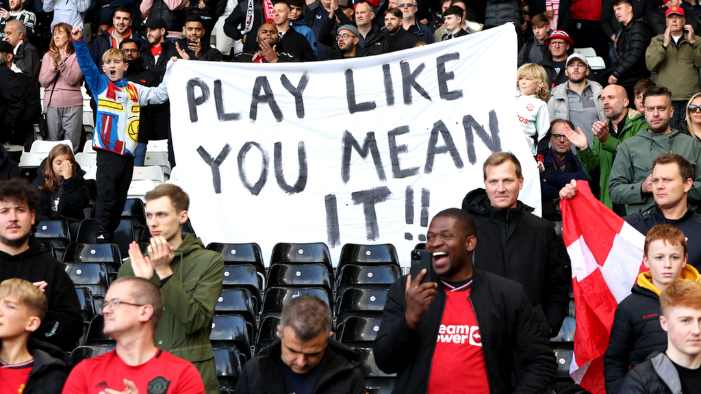
POLYGON ((83 130, 83 73, 73 49, 67 23, 53 27, 48 52, 41 62, 39 83, 45 88, 43 107, 48 123, 48 140, 70 140, 74 149, 81 144, 83 130))

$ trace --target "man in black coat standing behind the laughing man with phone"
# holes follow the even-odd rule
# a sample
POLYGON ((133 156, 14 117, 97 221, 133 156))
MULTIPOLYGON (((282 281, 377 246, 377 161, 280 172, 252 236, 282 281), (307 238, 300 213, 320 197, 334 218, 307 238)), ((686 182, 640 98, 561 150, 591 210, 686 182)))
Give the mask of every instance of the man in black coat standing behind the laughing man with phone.
POLYGON ((521 164, 508 152, 484 162, 485 189, 470 191, 463 210, 477 222, 475 268, 520 283, 547 336, 557 335, 569 305, 564 263, 550 222, 518 201, 521 164))

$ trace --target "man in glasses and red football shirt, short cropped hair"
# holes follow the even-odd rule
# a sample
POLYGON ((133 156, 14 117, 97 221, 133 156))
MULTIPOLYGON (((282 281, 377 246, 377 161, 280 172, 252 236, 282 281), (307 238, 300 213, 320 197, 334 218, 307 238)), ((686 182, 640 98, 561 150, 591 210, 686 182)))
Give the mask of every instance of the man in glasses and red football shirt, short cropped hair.
POLYGON ((63 393, 205 393, 191 362, 154 345, 163 306, 163 294, 150 280, 115 280, 104 296, 102 314, 103 332, 116 348, 76 365, 63 393))

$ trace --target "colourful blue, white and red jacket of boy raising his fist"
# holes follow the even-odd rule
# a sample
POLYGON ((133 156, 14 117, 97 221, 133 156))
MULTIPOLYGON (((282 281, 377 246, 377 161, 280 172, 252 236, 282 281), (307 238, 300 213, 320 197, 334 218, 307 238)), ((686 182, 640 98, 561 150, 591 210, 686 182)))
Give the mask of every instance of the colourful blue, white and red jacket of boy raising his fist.
POLYGON ((93 148, 134 156, 139 139, 140 108, 168 100, 165 80, 154 88, 131 83, 125 78, 111 82, 107 76, 97 72, 84 39, 73 41, 73 46, 81 72, 97 101, 93 148))

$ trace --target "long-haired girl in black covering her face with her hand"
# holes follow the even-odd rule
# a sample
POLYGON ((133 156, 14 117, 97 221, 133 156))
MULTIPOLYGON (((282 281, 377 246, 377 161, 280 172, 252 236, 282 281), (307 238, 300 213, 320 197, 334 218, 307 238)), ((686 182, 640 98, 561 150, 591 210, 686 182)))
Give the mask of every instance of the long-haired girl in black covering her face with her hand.
POLYGON ((41 198, 36 219, 65 220, 75 238, 81 220, 85 219, 83 210, 90 203, 90 189, 83 178, 86 172, 76 163, 71 148, 64 144, 53 147, 40 168, 39 176, 34 179, 41 198))

